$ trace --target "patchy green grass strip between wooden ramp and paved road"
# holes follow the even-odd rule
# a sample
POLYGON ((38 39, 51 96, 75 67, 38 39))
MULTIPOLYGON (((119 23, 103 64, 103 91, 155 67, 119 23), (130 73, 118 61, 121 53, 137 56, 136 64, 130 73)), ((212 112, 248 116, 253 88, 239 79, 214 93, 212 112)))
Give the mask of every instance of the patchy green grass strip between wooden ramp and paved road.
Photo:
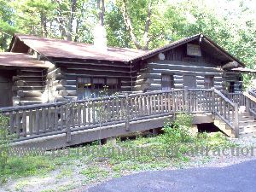
MULTIPOLYGON (((189 118, 185 114, 180 114, 179 120, 184 119, 181 125, 189 125, 189 118)), ((179 122, 177 120, 177 122, 179 122)), ((171 130, 172 128, 170 128, 171 130)), ((172 135, 172 134, 171 134, 172 135)), ((74 175, 81 179, 84 184, 103 181, 111 177, 120 177, 133 172, 141 172, 148 170, 160 170, 165 167, 183 167, 189 165, 191 159, 187 155, 191 148, 195 146, 209 146, 214 148, 233 147, 232 143, 221 133, 217 134, 198 134, 193 139, 181 139, 181 135, 177 134, 179 146, 177 155, 168 154, 170 149, 170 140, 165 140, 168 134, 157 137, 137 137, 136 140, 126 140, 124 142, 107 143, 100 146, 96 143, 86 145, 79 148, 66 148, 57 151, 54 157, 52 152, 47 152, 43 155, 27 155, 13 156, 7 161, 5 170, 0 172, 0 179, 6 181, 10 178, 22 177, 20 183, 16 184, 16 188, 22 190, 31 183, 31 177, 55 177, 56 182, 65 178, 72 178, 74 175), (169 145, 166 144, 169 143, 169 145), (67 155, 63 150, 69 150, 67 155), (80 151, 78 153, 77 151, 80 151), (120 153, 120 150, 123 152, 120 153), (160 153, 160 150, 166 153, 160 153), (139 153, 142 152, 142 153, 139 153), (58 174, 51 171, 58 169, 58 174)), ((170 136, 170 135, 169 135, 170 136)), ((172 143, 172 142, 171 142, 172 143)), ((194 159, 195 160, 195 159, 194 159)), ((210 160, 210 157, 204 157, 201 163, 210 160)), ((72 179, 71 179, 72 181, 72 179)), ((70 186, 71 189, 75 188, 70 186)), ((68 185, 68 183, 67 183, 68 185)), ((69 187, 64 187, 63 190, 68 190, 69 187)), ((65 191, 64 190, 64 191, 65 191)), ((61 191, 61 189, 56 189, 61 191)))

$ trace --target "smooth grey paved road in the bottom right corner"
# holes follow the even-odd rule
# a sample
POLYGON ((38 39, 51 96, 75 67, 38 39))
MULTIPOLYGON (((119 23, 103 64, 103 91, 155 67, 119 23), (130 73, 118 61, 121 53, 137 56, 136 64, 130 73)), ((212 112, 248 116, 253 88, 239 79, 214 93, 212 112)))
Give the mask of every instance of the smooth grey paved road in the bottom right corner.
POLYGON ((90 192, 256 192, 256 160, 223 168, 141 172, 89 189, 90 192))

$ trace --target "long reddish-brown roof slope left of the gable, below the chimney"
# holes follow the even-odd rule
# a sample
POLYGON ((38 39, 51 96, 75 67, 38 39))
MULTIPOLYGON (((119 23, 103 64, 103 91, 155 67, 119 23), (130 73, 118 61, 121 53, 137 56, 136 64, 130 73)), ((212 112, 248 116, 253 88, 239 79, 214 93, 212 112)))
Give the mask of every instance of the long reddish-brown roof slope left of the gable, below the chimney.
MULTIPOLYGON (((92 59, 106 61, 130 61, 146 51, 127 48, 108 47, 106 51, 96 49, 92 44, 82 44, 53 38, 15 34, 21 42, 46 57, 92 59)), ((13 45, 15 46, 15 44, 13 45)))

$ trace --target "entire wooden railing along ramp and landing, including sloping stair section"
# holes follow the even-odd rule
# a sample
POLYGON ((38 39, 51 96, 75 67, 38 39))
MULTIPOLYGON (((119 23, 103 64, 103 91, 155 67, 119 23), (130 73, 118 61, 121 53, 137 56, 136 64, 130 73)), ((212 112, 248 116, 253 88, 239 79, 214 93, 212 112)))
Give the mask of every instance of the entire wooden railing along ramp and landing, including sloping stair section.
POLYGON ((56 102, 1 108, 9 117, 9 131, 16 141, 65 133, 103 125, 170 116, 177 112, 213 112, 236 127, 237 105, 217 90, 183 89, 98 97, 75 102, 56 102))

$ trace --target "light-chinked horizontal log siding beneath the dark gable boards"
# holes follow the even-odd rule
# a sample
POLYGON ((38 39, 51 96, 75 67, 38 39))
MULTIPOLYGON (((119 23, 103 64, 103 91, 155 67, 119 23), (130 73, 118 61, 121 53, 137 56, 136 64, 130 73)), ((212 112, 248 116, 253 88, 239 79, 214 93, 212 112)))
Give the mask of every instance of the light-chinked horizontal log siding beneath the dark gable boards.
POLYGON ((223 71, 203 62, 151 61, 137 72, 136 91, 161 90, 161 75, 172 74, 175 89, 183 88, 183 74, 195 73, 196 88, 204 88, 205 75, 214 76, 214 88, 222 90, 223 71))

